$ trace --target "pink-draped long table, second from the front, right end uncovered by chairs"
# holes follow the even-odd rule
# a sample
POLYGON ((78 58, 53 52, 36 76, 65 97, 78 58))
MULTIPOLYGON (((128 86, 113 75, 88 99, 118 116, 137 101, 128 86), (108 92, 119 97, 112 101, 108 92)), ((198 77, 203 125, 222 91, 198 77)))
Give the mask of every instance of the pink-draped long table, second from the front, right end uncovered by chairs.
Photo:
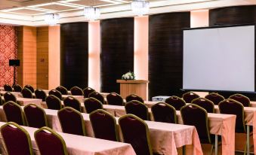
MULTIPOLYGON (((50 125, 50 127, 58 132, 61 132, 62 129, 60 127, 60 122, 57 117, 57 111, 45 109, 45 113, 47 114, 48 124, 50 125)), ((89 114, 82 113, 82 116, 85 120, 85 129, 87 135, 90 137, 94 137, 89 114)), ((6 121, 5 113, 2 109, 2 106, 0 106, 0 119, 1 121, 6 121)), ((118 119, 119 117, 116 117, 116 120, 118 119)), ((146 123, 150 129, 150 140, 154 152, 166 155, 176 155, 177 147, 190 145, 189 147, 187 147, 187 152, 190 152, 188 154, 202 154, 199 136, 194 126, 159 123, 152 121, 146 121, 146 123)), ((120 130, 119 135, 121 135, 120 130)))

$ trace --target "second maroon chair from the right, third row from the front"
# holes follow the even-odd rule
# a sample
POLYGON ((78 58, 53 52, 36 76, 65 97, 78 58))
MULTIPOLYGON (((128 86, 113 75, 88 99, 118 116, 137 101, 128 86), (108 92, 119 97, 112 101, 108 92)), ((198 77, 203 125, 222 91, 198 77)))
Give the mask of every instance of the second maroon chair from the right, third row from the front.
POLYGON ((176 110, 165 102, 159 102, 151 107, 156 122, 177 123, 176 110))

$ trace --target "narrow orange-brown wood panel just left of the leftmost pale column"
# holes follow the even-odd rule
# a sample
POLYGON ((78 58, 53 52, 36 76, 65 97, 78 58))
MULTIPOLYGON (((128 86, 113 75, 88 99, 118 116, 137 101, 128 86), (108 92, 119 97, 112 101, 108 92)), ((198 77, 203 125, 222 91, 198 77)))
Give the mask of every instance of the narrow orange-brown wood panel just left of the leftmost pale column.
POLYGON ((36 83, 40 89, 48 90, 49 27, 37 28, 36 83))

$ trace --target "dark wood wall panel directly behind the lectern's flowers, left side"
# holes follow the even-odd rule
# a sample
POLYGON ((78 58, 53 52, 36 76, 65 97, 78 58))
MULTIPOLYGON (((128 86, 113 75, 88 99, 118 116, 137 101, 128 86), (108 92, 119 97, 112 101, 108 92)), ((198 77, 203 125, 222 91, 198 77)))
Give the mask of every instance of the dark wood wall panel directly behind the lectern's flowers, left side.
POLYGON ((119 93, 116 80, 134 70, 134 18, 101 20, 100 35, 100 90, 119 93))

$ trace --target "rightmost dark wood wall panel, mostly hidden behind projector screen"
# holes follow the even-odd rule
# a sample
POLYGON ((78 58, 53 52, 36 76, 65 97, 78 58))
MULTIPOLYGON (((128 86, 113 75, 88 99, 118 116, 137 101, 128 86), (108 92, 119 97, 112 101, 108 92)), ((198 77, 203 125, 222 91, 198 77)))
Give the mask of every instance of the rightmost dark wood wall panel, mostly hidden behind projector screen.
MULTIPOLYGON (((251 24, 251 23, 256 23, 256 5, 217 8, 217 9, 211 9, 209 11, 210 26, 251 24)), ((255 74, 255 77, 256 77, 256 74, 255 74)), ((223 95, 225 98, 228 98, 230 95, 234 94, 234 92, 218 92, 218 93, 223 95)), ((251 100, 254 100, 254 101, 256 100, 256 97, 253 93, 242 93, 242 94, 245 96, 248 96, 251 100)))

